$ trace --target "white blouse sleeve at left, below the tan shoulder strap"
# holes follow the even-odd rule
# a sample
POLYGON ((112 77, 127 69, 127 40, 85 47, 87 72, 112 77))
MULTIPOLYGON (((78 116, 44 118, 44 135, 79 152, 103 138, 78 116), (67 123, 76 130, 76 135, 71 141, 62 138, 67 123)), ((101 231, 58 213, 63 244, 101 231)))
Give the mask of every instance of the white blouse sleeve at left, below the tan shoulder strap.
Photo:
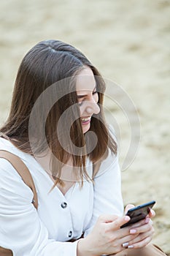
POLYGON ((5 159, 0 159, 0 246, 14 256, 76 256, 77 241, 48 238, 36 208, 33 192, 5 159))

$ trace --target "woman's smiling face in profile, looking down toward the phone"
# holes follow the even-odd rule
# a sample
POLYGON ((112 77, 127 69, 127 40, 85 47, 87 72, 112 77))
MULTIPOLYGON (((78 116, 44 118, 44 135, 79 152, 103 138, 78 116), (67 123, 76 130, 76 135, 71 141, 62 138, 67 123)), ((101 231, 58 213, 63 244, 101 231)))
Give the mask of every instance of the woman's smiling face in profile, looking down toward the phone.
POLYGON ((93 114, 98 114, 98 92, 96 91, 96 80, 89 67, 85 67, 77 75, 76 90, 80 105, 80 118, 83 133, 90 129, 90 119, 93 114))

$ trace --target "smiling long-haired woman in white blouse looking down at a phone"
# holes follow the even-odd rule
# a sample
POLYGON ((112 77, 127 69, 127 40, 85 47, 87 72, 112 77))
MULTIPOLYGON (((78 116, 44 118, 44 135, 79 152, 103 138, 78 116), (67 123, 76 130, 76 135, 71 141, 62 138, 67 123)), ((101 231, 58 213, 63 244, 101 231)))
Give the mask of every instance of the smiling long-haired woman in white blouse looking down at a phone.
POLYGON ((36 211, 31 189, 0 159, 0 241, 14 255, 155 255, 153 211, 120 229, 129 217, 122 217, 104 89, 96 67, 60 41, 39 42, 20 64, 0 149, 28 167, 39 206, 36 211))

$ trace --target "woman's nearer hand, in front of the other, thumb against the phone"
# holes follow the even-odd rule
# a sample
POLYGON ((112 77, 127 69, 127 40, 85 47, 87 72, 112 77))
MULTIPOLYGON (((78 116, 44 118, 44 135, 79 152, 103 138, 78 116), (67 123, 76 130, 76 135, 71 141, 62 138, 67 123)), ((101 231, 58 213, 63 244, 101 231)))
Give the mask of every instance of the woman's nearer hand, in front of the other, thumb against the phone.
POLYGON ((129 233, 129 227, 120 226, 130 220, 130 217, 117 217, 102 215, 98 218, 92 232, 80 239, 77 245, 77 256, 112 255, 125 250, 122 246, 127 241, 132 241, 135 236, 129 233))

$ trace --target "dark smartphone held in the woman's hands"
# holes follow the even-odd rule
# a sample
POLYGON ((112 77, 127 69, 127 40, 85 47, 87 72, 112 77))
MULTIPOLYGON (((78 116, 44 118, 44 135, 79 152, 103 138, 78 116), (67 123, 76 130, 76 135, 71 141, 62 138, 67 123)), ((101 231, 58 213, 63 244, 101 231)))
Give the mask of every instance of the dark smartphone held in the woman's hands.
POLYGON ((120 228, 127 227, 128 225, 131 225, 133 223, 139 222, 139 220, 144 219, 147 216, 147 214, 149 214, 150 209, 154 205, 155 201, 151 201, 129 209, 125 215, 128 215, 131 219, 127 223, 122 225, 120 228))

